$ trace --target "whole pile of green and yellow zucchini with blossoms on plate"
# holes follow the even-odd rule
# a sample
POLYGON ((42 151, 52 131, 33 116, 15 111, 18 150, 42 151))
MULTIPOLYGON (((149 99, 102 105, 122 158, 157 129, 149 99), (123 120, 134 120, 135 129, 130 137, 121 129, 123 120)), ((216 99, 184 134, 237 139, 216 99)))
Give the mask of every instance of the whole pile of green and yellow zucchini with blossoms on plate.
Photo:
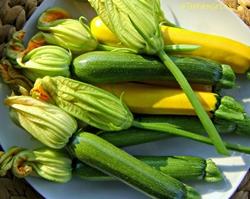
POLYGON ((115 179, 152 198, 200 198, 186 183, 221 181, 211 159, 133 156, 121 147, 182 136, 223 155, 250 153, 222 140, 249 135, 250 119, 219 92, 235 86, 235 73, 248 73, 250 47, 174 26, 158 0, 89 2, 98 15, 90 26, 50 8, 26 47, 23 32, 7 46, 1 67, 13 94, 4 103, 44 148, 1 152, 0 175, 115 179))

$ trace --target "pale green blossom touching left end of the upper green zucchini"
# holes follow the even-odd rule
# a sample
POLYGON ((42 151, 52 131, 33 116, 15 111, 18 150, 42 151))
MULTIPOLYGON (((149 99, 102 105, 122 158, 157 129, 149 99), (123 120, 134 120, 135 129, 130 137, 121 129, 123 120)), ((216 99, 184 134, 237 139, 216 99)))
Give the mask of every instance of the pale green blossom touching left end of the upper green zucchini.
POLYGON ((71 60, 72 56, 68 50, 47 45, 35 48, 26 55, 21 53, 17 58, 17 63, 24 75, 35 81, 46 75, 69 77, 71 60))

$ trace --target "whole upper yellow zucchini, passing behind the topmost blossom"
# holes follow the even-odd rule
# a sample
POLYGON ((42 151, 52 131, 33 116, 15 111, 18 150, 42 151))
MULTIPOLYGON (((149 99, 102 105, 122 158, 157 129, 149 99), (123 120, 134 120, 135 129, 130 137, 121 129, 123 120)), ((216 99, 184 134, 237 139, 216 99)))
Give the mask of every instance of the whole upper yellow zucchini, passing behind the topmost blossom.
MULTIPOLYGON (((250 47, 222 36, 162 26, 165 44, 194 44, 201 48, 185 54, 201 56, 232 66, 236 73, 246 73, 250 68, 250 47)), ((91 32, 104 44, 120 45, 119 39, 107 28, 100 17, 91 22, 91 32)))

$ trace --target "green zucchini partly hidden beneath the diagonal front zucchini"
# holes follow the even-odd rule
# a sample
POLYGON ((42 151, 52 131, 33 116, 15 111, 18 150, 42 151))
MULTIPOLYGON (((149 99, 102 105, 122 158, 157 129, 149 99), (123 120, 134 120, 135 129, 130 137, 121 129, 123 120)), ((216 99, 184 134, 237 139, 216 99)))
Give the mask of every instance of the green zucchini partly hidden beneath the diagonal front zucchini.
MULTIPOLYGON (((179 180, 221 181, 219 168, 211 160, 193 156, 135 156, 149 166, 179 180)), ((85 180, 115 180, 114 177, 90 167, 80 161, 75 163, 75 176, 85 180)))

